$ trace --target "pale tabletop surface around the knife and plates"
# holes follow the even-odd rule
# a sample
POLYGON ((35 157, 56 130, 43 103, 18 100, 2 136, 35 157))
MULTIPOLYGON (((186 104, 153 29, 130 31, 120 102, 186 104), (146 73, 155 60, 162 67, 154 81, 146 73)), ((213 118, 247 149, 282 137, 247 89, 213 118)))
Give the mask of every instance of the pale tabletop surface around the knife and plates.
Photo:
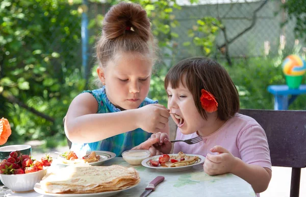
MULTIPOLYGON (((116 157, 104 163, 105 166, 118 164, 127 167, 132 165, 126 163, 122 158, 116 157)), ((210 196, 210 197, 255 197, 250 184, 243 179, 233 175, 225 174, 209 176, 203 172, 201 164, 193 166, 192 169, 181 172, 161 172, 142 165, 133 166, 138 170, 141 182, 136 187, 122 191, 115 196, 140 196, 147 184, 157 176, 164 176, 165 181, 156 187, 149 197, 161 196, 210 196)), ((8 193, 7 197, 48 197, 39 193, 8 193)))

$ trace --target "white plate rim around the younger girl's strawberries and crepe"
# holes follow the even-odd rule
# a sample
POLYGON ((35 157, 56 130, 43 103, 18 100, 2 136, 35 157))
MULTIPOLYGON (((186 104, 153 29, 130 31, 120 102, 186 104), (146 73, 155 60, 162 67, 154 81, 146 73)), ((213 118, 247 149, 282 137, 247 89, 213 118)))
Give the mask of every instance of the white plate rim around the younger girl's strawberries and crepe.
MULTIPOLYGON (((177 155, 177 154, 168 154, 168 155, 171 156, 171 155, 177 155)), ((186 154, 186 156, 198 156, 199 159, 194 164, 186 165, 186 166, 180 166, 180 167, 162 167, 160 165, 159 166, 154 166, 149 162, 149 160, 152 159, 152 160, 158 161, 158 158, 160 157, 160 155, 158 155, 158 156, 149 157, 149 158, 143 160, 141 162, 141 164, 144 167, 154 168, 154 169, 157 169, 159 171, 184 171, 184 170, 192 168, 192 166, 194 166, 194 165, 203 163, 205 161, 205 157, 201 156, 201 155, 186 154)))

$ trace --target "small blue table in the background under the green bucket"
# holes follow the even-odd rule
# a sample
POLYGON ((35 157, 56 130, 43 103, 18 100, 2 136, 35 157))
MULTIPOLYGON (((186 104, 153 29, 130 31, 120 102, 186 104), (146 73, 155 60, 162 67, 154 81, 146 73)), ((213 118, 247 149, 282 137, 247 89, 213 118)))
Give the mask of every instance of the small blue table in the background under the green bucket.
POLYGON ((271 85, 268 91, 274 95, 274 110, 288 110, 298 95, 306 94, 306 84, 300 85, 298 89, 289 89, 287 85, 271 85))

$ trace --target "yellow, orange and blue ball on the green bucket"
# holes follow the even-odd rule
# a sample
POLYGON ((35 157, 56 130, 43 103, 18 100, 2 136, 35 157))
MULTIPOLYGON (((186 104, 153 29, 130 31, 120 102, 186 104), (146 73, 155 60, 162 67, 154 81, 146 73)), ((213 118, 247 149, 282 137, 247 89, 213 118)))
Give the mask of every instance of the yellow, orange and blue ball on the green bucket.
POLYGON ((283 62, 283 72, 289 76, 301 76, 306 72, 306 63, 298 55, 289 55, 283 62))

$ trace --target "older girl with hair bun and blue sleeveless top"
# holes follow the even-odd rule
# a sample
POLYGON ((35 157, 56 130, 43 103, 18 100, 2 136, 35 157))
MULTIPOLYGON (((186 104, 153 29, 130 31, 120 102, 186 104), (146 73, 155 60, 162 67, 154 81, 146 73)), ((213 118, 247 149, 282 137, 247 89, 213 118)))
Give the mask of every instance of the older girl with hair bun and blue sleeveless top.
POLYGON ((103 87, 73 99, 65 133, 72 151, 101 150, 121 156, 151 133, 168 133, 170 114, 146 97, 156 51, 145 10, 125 2, 113 6, 102 33, 96 44, 96 71, 103 87))

